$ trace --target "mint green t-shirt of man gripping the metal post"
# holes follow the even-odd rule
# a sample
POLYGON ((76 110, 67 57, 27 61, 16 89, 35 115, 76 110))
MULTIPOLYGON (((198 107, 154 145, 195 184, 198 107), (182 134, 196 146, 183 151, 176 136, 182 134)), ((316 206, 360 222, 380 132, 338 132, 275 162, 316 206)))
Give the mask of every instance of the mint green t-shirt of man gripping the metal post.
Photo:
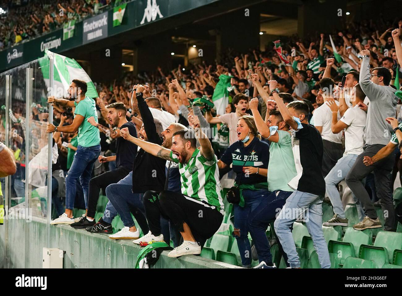
POLYGON ((74 117, 78 115, 84 116, 84 121, 78 128, 78 145, 82 147, 96 146, 100 143, 99 129, 88 122, 88 118, 93 116, 95 122, 98 122, 98 113, 96 113, 95 101, 90 97, 85 97, 78 104, 74 102, 76 107, 74 117))

